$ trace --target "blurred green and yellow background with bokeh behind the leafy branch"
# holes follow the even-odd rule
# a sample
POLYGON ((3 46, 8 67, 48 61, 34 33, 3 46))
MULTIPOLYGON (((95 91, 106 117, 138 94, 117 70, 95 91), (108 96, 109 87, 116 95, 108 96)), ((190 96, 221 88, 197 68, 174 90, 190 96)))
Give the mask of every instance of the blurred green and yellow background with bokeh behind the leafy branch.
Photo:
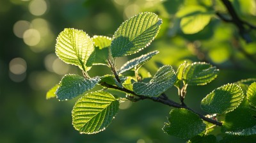
MULTIPOLYGON (((256 25, 255 1, 233 0, 232 4, 239 17, 256 25)), ((186 142, 161 130, 172 109, 166 105, 151 101, 122 103, 104 132, 81 135, 73 128, 71 117, 78 98, 58 102, 46 100, 45 93, 63 75, 81 74, 54 54, 56 37, 65 27, 83 29, 90 36, 111 37, 124 20, 141 11, 152 11, 163 19, 156 40, 140 53, 118 59, 118 67, 152 50, 160 51, 144 66, 152 75, 161 64, 177 69, 184 60, 217 66, 220 75, 216 80, 204 87, 188 87, 185 102, 202 112, 200 100, 216 87, 256 77, 256 32, 248 31, 253 42, 246 43, 236 26, 212 16, 199 33, 184 34, 176 13, 195 5, 227 13, 217 0, 0 1, 0 142, 186 142)), ((89 75, 104 73, 109 71, 95 66, 89 75)), ((166 93, 178 102, 176 89, 166 93)))

